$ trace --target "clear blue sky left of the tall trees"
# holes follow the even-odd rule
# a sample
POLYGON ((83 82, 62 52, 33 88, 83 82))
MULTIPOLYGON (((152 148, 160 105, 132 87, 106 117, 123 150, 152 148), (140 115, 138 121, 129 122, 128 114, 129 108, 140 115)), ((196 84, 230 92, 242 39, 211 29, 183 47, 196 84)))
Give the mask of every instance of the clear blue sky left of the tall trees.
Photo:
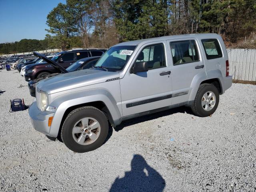
POLYGON ((0 43, 44 39, 48 13, 66 0, 0 0, 0 43))

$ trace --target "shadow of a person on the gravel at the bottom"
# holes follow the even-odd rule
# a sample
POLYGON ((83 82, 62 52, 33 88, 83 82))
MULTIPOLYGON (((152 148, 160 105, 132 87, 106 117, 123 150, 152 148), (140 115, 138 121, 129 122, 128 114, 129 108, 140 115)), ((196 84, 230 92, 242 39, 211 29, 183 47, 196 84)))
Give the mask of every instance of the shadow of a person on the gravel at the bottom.
POLYGON ((131 170, 125 172, 123 178, 118 176, 109 192, 162 192, 164 187, 164 178, 150 167, 141 155, 135 154, 131 170))

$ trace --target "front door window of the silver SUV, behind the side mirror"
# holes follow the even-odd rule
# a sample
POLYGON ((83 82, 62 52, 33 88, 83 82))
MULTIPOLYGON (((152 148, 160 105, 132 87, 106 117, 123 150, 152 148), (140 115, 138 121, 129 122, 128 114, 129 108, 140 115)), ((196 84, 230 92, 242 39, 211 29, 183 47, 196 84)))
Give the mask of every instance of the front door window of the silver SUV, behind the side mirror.
POLYGON ((164 45, 156 44, 145 47, 136 62, 148 62, 148 69, 165 67, 164 45))

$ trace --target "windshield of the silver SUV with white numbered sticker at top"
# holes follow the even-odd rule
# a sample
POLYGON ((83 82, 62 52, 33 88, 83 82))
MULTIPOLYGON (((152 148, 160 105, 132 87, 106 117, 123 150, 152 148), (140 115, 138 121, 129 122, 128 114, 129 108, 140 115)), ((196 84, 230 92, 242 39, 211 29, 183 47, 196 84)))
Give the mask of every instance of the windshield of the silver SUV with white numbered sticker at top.
POLYGON ((124 68, 136 46, 114 46, 108 49, 98 60, 95 68, 106 68, 116 72, 124 68))

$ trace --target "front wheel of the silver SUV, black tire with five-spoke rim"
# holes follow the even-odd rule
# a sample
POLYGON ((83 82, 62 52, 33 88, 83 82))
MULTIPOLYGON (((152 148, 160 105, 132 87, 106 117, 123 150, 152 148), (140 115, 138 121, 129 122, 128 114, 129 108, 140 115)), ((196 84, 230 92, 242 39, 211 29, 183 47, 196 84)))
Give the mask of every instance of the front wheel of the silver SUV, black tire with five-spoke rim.
POLYGON ((106 116, 92 106, 77 108, 70 112, 61 130, 64 144, 70 150, 78 153, 99 148, 106 140, 107 135, 108 120, 106 116))

